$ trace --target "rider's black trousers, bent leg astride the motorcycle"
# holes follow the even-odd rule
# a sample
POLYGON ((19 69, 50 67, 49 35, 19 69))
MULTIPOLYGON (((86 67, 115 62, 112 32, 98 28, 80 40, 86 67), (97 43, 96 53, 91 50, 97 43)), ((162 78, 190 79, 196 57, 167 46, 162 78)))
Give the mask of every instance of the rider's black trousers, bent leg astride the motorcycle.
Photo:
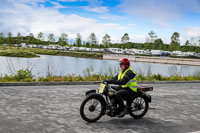
POLYGON ((130 97, 135 94, 130 88, 123 88, 116 92, 114 100, 117 104, 119 104, 120 112, 125 110, 125 105, 123 100, 128 101, 130 97))

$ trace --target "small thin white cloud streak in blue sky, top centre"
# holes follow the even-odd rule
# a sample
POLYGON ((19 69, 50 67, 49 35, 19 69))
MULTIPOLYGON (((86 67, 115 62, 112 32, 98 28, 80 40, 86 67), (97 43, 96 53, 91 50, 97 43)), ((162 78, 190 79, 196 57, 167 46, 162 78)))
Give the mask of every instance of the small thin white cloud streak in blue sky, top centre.
POLYGON ((107 6, 98 6, 98 7, 82 6, 81 8, 84 10, 87 10, 90 12, 96 12, 96 13, 106 13, 109 11, 107 6))

